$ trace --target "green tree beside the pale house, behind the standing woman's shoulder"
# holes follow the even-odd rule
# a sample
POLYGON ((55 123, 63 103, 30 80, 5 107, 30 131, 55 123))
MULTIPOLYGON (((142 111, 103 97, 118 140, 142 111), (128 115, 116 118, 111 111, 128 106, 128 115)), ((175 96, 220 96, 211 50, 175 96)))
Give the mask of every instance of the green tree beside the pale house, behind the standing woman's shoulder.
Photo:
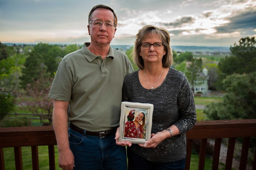
POLYGON ((203 84, 203 80, 206 77, 200 77, 199 73, 202 72, 203 61, 202 59, 195 59, 193 58, 189 67, 187 67, 186 76, 189 80, 191 85, 192 91, 194 91, 194 87, 196 85, 203 84))

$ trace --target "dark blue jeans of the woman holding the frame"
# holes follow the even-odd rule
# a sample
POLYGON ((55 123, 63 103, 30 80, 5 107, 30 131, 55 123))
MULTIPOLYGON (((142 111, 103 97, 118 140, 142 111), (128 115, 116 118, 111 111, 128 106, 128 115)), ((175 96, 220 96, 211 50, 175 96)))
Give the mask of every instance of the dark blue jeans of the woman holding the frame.
MULTIPOLYGON (((133 144, 134 145, 134 144, 133 144)), ((133 153, 127 147, 127 157, 132 170, 184 170, 186 158, 172 162, 151 162, 133 153)))

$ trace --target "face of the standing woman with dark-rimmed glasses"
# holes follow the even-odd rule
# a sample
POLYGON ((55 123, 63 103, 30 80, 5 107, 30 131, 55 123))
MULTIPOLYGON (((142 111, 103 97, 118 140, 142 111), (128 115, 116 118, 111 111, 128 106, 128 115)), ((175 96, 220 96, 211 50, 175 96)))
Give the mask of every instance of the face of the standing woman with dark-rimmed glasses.
MULTIPOLYGON (((163 41, 157 36, 147 36, 141 43, 163 43, 163 41)), ((160 49, 155 49, 153 45, 150 46, 149 49, 143 49, 140 47, 140 56, 142 56, 142 59, 144 61, 144 64, 146 63, 153 63, 153 62, 159 62, 162 63, 162 58, 165 55, 166 51, 164 46, 160 49)))

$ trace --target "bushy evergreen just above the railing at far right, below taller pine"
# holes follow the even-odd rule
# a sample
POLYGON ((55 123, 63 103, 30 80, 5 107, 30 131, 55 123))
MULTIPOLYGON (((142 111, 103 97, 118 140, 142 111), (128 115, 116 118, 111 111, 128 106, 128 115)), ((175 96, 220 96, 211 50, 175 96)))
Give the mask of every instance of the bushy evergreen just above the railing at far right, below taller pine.
POLYGON ((227 93, 223 101, 211 103, 203 111, 210 120, 256 119, 256 72, 233 74, 223 80, 227 93))

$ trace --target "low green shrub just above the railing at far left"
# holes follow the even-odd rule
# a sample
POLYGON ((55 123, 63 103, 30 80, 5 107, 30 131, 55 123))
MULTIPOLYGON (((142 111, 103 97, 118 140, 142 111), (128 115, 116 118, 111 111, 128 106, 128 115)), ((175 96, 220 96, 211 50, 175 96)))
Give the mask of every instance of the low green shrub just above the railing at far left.
POLYGON ((14 118, 4 118, 0 122, 1 127, 23 127, 31 126, 31 118, 29 116, 19 116, 14 118))

